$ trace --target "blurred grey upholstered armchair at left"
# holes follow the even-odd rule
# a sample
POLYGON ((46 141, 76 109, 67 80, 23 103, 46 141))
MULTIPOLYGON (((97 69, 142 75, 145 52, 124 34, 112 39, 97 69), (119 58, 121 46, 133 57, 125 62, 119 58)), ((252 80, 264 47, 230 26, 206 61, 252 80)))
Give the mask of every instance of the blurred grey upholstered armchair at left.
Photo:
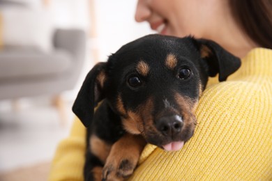
POLYGON ((75 86, 84 63, 86 36, 77 29, 58 29, 54 51, 6 47, 0 50, 0 100, 58 95, 75 86))

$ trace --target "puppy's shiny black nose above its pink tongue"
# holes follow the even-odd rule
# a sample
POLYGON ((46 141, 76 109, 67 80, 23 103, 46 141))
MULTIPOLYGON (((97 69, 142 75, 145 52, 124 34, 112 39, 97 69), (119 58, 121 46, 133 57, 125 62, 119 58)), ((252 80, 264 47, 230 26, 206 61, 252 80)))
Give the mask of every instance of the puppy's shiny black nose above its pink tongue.
POLYGON ((156 121, 157 129, 165 136, 172 136, 181 131, 183 120, 180 116, 165 116, 156 121))

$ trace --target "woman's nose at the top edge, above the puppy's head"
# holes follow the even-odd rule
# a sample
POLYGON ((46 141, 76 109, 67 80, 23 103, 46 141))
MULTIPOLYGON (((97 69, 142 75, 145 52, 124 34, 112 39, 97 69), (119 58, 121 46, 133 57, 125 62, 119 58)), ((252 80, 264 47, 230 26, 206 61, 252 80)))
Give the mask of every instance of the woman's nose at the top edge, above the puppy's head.
POLYGON ((149 8, 146 0, 138 0, 136 12, 135 12, 135 20, 136 22, 144 22, 151 15, 151 9, 149 8))

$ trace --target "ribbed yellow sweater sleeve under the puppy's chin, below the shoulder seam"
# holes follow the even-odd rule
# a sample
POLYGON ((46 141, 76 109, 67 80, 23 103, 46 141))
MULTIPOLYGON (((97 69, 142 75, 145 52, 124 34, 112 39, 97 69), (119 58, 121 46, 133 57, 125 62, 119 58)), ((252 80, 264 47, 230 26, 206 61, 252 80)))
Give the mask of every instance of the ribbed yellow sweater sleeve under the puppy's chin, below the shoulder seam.
POLYGON ((130 180, 271 180, 272 79, 247 79, 207 88, 192 139, 178 152, 147 145, 130 180))

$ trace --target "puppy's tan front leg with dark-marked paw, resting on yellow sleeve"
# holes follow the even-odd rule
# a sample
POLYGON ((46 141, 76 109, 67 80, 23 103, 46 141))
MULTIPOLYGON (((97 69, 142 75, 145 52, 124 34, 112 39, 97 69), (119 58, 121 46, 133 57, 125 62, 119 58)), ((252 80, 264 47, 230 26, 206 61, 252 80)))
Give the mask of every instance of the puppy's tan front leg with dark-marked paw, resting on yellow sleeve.
POLYGON ((133 174, 146 141, 139 135, 125 134, 112 145, 103 168, 103 180, 123 180, 133 174))

